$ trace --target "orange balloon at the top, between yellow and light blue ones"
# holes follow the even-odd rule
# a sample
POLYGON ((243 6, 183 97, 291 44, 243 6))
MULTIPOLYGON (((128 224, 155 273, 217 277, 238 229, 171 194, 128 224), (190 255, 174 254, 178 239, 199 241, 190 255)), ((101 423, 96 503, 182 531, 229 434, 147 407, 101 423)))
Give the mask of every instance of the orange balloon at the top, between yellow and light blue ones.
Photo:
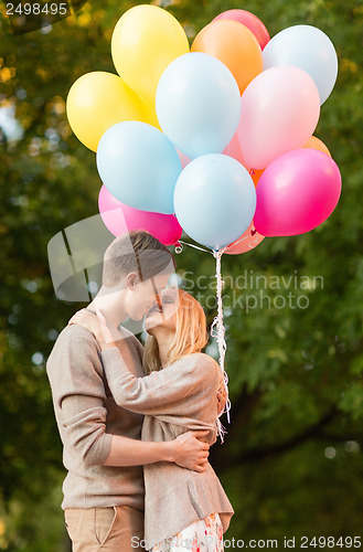
POLYGON ((241 94, 264 70, 258 40, 237 21, 224 19, 204 26, 195 36, 191 52, 203 52, 221 60, 237 81, 241 94))

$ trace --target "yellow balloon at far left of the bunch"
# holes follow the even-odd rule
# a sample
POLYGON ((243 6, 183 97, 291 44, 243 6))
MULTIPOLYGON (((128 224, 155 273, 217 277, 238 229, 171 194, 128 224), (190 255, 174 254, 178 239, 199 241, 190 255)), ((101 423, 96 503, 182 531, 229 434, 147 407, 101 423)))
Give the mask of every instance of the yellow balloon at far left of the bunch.
POLYGON ((86 73, 73 83, 66 112, 72 130, 93 151, 116 123, 146 117, 139 96, 118 75, 104 71, 86 73))

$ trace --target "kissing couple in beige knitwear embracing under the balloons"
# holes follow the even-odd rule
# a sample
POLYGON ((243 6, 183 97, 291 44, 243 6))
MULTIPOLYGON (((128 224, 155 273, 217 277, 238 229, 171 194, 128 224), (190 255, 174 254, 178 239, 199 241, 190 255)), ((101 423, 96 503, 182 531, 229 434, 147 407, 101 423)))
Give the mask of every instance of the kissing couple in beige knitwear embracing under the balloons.
POLYGON ((74 552, 223 551, 234 510, 207 456, 226 394, 202 306, 168 287, 174 268, 147 232, 114 240, 49 357, 74 552), (145 317, 145 348, 128 317, 145 317))

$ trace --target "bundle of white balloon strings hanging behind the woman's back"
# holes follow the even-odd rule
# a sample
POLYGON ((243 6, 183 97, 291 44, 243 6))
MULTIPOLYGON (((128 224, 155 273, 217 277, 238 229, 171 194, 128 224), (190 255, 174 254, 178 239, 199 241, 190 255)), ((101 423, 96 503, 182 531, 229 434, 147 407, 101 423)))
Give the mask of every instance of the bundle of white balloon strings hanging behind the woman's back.
MULTIPOLYGON (((228 399, 228 374, 226 373, 224 369, 224 358, 225 358, 225 352, 227 349, 226 342, 225 342, 225 327, 223 325, 223 301, 222 301, 222 288, 223 288, 223 279, 222 279, 222 274, 221 274, 221 257, 224 253, 226 247, 223 247, 221 250, 213 250, 213 256, 216 259, 216 269, 215 269, 215 277, 216 277, 216 298, 217 298, 217 316, 214 317, 214 320, 211 326, 211 336, 216 338, 217 346, 218 346, 218 353, 220 353, 220 369, 222 371, 223 375, 223 381, 224 381, 224 389, 226 391, 227 395, 227 401, 226 401, 226 413, 227 413, 227 421, 228 424, 231 424, 231 418, 229 418, 229 411, 231 411, 231 401, 228 399)), ((224 411, 223 411, 224 412, 224 411)), ((221 413, 221 415, 223 414, 221 413)), ((222 425, 221 421, 217 420, 217 433, 221 437, 221 442, 224 442, 224 434, 227 433, 225 427, 222 425)))

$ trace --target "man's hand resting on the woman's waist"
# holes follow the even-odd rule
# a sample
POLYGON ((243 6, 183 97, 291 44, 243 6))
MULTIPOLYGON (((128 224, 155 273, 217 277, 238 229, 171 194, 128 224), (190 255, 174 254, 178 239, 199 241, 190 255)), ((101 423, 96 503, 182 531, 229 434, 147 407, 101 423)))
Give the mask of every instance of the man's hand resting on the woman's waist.
POLYGON ((205 471, 210 455, 210 445, 200 439, 203 439, 209 433, 209 429, 186 432, 170 442, 172 446, 172 461, 182 468, 200 473, 205 471))

